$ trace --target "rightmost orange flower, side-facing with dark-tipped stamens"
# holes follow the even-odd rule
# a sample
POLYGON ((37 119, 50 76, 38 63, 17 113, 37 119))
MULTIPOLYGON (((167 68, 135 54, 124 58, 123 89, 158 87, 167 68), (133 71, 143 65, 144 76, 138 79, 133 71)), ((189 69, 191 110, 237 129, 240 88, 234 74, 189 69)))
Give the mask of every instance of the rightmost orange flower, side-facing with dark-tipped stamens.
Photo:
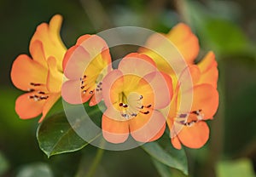
POLYGON ((177 81, 177 93, 172 100, 167 124, 171 130, 172 145, 181 149, 181 143, 190 148, 200 148, 209 138, 209 128, 205 121, 212 119, 218 109, 218 69, 215 56, 209 52, 198 66, 186 68, 191 74, 194 85, 181 90, 181 82, 186 76, 181 75, 177 81), (191 94, 193 97, 190 111, 183 112, 178 107, 181 97, 191 94))

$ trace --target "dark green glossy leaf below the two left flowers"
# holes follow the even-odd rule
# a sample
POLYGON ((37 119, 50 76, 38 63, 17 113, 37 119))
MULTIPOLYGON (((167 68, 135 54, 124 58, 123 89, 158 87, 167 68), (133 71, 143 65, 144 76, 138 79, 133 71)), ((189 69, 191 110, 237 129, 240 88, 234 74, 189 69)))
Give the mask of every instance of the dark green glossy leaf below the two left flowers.
MULTIPOLYGON (((96 140, 96 138, 102 135, 102 132, 99 131, 90 136, 89 140, 87 140, 88 142, 83 140, 75 132, 74 128, 83 128, 82 125, 84 121, 88 121, 88 118, 85 118, 85 115, 79 115, 79 113, 76 112, 75 106, 69 106, 69 109, 72 110, 73 116, 78 117, 79 120, 78 123, 73 125, 75 127, 72 127, 68 122, 64 112, 48 117, 38 127, 38 143, 41 150, 44 151, 48 157, 66 152, 79 151, 84 146, 89 145, 91 141, 96 140)), ((99 107, 90 107, 88 104, 84 104, 84 109, 91 118, 91 121, 100 126, 102 111, 99 107)))

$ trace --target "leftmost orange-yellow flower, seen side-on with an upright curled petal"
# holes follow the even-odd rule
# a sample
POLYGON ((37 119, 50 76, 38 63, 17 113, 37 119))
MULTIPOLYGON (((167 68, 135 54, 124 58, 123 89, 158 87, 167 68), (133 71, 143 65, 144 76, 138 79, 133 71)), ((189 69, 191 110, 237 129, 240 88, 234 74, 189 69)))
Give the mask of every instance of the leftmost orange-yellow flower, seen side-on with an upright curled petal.
POLYGON ((43 113, 41 122, 61 96, 61 62, 66 52, 60 37, 61 22, 61 15, 56 14, 49 25, 39 25, 29 47, 32 58, 20 54, 13 63, 12 82, 28 92, 15 102, 15 111, 22 119, 43 113))

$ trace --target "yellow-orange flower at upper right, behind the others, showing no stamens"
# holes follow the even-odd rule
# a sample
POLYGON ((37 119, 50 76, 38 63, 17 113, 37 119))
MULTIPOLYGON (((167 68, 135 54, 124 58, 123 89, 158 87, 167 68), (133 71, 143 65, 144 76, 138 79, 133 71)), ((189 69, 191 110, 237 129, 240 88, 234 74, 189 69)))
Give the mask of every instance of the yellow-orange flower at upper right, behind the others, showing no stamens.
MULTIPOLYGON (((140 48, 138 51, 151 57, 160 71, 174 75, 168 60, 177 61, 178 58, 182 57, 185 61, 184 64, 192 65, 199 54, 199 50, 198 38, 190 27, 179 23, 167 34, 155 33, 148 37, 145 48, 140 48)), ((181 65, 185 66, 184 64, 181 65)))

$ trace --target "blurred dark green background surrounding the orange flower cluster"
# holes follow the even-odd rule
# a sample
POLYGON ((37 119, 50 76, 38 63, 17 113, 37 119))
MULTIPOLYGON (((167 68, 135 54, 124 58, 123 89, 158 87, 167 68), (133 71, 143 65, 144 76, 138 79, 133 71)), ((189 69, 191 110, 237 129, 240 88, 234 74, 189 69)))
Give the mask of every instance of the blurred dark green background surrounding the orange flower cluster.
MULTIPOLYGON (((75 176, 81 170, 79 163, 90 165, 95 156, 96 148, 89 146, 48 159, 38 147, 38 120, 20 120, 15 114, 15 99, 21 92, 10 81, 12 62, 19 54, 29 54, 36 26, 54 14, 64 18, 61 37, 67 48, 83 34, 115 26, 167 32, 177 22, 189 24, 201 43, 199 59, 209 49, 217 55, 220 93, 218 113, 208 122, 207 145, 186 149, 189 176, 255 176, 255 0, 1 0, 0 176, 75 176)), ((172 174, 183 176, 175 170, 172 174)), ((146 152, 137 148, 105 152, 96 176, 160 174, 146 152)))

